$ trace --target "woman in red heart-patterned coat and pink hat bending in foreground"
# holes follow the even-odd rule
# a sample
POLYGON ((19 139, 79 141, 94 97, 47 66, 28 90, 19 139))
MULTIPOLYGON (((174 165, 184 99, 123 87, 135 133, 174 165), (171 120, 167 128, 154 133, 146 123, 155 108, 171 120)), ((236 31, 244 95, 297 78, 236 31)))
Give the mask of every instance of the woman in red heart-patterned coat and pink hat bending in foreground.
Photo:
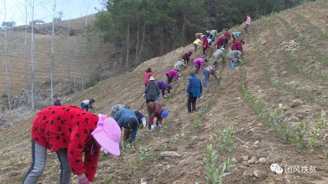
POLYGON ((76 106, 53 106, 37 112, 31 127, 32 164, 23 184, 36 184, 42 175, 47 149, 56 152, 60 165, 60 181, 69 184, 72 173, 79 184, 93 181, 100 147, 120 155, 118 140, 121 130, 113 118, 94 115, 76 106), (85 152, 84 161, 82 152, 85 152))

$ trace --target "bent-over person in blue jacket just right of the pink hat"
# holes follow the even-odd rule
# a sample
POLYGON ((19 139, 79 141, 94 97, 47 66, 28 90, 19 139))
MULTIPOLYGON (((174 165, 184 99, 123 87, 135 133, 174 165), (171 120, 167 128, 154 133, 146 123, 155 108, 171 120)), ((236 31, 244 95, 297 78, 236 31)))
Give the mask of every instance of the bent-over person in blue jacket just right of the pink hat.
POLYGON ((132 143, 139 127, 139 121, 134 112, 130 109, 120 109, 116 112, 114 120, 120 126, 121 130, 124 127, 124 141, 130 138, 129 143, 132 143))

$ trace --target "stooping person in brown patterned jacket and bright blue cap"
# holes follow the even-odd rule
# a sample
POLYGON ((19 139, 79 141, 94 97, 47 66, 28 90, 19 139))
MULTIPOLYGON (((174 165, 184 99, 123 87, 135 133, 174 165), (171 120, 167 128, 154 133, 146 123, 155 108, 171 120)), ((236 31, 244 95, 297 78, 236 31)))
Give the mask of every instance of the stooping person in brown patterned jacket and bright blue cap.
POLYGON ((156 127, 160 128, 162 120, 169 115, 169 111, 164 109, 158 102, 149 102, 147 105, 149 115, 148 129, 154 129, 154 118, 156 117, 156 127))

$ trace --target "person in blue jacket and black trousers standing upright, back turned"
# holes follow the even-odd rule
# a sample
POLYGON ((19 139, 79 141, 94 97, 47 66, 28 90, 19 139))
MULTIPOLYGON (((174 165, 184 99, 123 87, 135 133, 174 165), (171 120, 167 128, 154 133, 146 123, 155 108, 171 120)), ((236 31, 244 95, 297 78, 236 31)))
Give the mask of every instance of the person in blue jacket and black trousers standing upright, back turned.
POLYGON ((188 82, 188 87, 186 90, 186 95, 188 95, 188 113, 196 112, 196 100, 200 98, 203 92, 202 84, 200 79, 195 75, 195 72, 190 72, 190 78, 188 82))

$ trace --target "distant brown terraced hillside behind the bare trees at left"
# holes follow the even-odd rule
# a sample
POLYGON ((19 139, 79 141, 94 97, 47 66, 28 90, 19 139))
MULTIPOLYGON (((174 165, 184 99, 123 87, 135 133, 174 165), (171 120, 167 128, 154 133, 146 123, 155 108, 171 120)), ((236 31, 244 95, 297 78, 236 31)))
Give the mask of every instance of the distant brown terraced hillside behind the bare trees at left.
MULTIPOLYGON (((74 56, 76 51, 76 80, 81 82, 81 71, 83 61, 83 27, 84 18, 70 20, 69 37, 69 62, 70 72, 68 72, 67 59, 67 30, 68 21, 55 23, 54 37, 54 63, 53 80, 54 84, 64 83, 68 80, 70 73, 71 83, 74 81, 74 56)), ((89 24, 94 20, 94 14, 88 16, 89 24)), ((36 88, 50 88, 50 64, 51 64, 51 30, 52 24, 35 25, 34 28, 34 85, 36 88), (48 31, 50 30, 50 31, 48 31)), ((4 32, 0 31, 0 37, 4 37, 4 32)), ((7 37, 8 49, 8 79, 11 95, 22 92, 25 89, 25 56, 24 56, 25 26, 17 26, 9 31, 7 37)), ((3 39, 0 40, 0 95, 7 94, 5 75, 5 47, 3 39)), ((101 47, 100 37, 92 35, 87 40, 86 61, 84 66, 85 80, 93 74, 99 67, 113 65, 114 48, 111 44, 105 43, 101 47), (101 49, 103 53, 101 54, 101 49), (101 56, 102 55, 102 56, 101 56), (102 61, 101 61, 102 60, 102 61), (101 63, 101 65, 100 65, 101 63)), ((31 27, 28 26, 27 33, 27 58, 28 77, 31 80, 31 27)))

